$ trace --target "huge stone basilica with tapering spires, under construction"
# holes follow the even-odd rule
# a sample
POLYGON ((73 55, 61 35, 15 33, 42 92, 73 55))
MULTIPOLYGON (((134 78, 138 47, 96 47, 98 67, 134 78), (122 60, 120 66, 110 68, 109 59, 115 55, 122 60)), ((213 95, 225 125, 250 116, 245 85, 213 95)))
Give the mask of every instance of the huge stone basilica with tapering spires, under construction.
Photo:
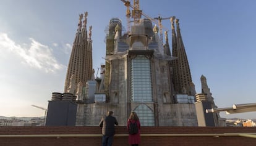
POLYGON ((132 111, 142 126, 219 126, 218 113, 204 112, 206 107, 216 107, 205 76, 201 77, 202 92, 195 91, 179 19, 169 18, 169 46, 167 31, 163 42, 161 17, 160 26, 153 25, 151 18, 142 18, 138 7, 130 13, 126 6, 127 18, 132 14, 134 20, 128 22, 125 33, 119 18, 109 20, 105 64, 96 78, 92 26, 87 31, 87 12, 79 15, 64 92, 53 92, 46 125, 61 125, 66 118, 64 125, 98 126, 112 110, 121 126, 132 111), (62 120, 58 123, 56 118, 62 120))

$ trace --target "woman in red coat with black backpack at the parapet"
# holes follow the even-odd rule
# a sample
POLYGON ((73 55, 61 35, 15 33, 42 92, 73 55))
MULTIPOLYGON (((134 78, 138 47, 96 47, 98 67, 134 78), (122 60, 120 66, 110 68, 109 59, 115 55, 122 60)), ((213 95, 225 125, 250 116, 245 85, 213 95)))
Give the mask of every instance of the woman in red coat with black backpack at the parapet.
POLYGON ((129 134, 129 145, 138 146, 140 142, 140 120, 135 112, 130 113, 130 117, 127 121, 127 129, 129 130, 130 123, 136 123, 139 131, 136 134, 129 134))

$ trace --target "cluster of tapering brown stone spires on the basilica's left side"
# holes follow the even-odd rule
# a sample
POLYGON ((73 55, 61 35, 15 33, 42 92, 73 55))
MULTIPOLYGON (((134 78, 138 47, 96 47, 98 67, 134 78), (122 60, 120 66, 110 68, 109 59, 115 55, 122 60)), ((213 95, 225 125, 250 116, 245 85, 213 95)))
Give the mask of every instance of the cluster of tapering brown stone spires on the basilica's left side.
POLYGON ((85 86, 87 81, 92 78, 92 26, 87 36, 87 15, 79 15, 79 23, 75 40, 72 46, 69 66, 64 86, 64 92, 70 92, 75 95, 79 86, 85 86), (82 22, 83 20, 83 22, 82 22))

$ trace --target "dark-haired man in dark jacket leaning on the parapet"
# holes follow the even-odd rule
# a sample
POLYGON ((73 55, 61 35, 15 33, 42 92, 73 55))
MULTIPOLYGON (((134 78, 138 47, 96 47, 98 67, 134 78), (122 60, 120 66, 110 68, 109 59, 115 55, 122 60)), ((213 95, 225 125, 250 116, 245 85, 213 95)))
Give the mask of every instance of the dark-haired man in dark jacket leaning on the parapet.
POLYGON ((108 116, 101 118, 99 126, 102 127, 102 146, 111 146, 114 137, 114 124, 118 125, 113 115, 113 111, 108 112, 108 116))

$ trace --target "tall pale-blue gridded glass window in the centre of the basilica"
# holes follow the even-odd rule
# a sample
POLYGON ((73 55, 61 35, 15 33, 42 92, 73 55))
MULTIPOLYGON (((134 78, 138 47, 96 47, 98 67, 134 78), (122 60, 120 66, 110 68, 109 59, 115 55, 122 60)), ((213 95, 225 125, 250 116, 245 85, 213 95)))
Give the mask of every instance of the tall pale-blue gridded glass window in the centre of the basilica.
POLYGON ((131 61, 131 101, 141 103, 135 111, 142 126, 155 126, 154 113, 143 103, 152 103, 150 60, 145 55, 137 55, 131 61))

